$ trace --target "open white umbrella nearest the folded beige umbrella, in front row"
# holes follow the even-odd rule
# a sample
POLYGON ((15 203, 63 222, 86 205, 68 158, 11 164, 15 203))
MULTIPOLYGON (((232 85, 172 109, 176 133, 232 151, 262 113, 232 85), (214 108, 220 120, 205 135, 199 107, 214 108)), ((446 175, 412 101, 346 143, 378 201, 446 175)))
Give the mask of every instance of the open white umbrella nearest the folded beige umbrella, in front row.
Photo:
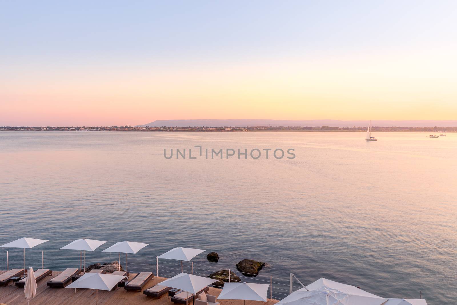
POLYGON ((110 291, 122 279, 123 275, 103 274, 103 273, 85 273, 73 283, 65 288, 85 288, 96 289, 96 303, 98 304, 98 290, 110 291))

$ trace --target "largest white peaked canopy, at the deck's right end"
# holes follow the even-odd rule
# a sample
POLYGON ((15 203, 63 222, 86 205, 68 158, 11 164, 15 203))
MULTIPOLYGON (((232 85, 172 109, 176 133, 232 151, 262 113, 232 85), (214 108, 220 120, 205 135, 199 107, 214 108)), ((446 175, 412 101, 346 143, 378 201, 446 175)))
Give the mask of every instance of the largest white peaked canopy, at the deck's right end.
POLYGON ((387 299, 355 286, 320 278, 305 288, 289 294, 277 305, 382 305, 387 299))

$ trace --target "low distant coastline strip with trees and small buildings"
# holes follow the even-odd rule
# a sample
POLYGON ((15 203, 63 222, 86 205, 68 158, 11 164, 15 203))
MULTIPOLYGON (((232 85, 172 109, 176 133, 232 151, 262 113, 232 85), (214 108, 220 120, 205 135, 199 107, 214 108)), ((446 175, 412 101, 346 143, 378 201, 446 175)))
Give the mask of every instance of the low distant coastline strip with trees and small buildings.
MULTIPOLYGON (((360 127, 332 127, 332 126, 246 126, 246 127, 207 127, 207 126, 104 126, 104 127, 27 127, 27 126, 0 126, 0 131, 128 131, 128 132, 366 132, 367 126, 360 127)), ((372 132, 457 132, 457 127, 398 127, 372 126, 372 132)))

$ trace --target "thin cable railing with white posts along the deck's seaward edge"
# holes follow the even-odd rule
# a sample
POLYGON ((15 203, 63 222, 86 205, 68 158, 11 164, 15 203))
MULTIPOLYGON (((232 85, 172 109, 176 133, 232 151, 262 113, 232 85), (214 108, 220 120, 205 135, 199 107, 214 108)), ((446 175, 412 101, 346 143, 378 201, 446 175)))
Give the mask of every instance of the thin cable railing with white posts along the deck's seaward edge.
MULTIPOLYGON (((22 253, 10 253, 8 261, 4 257, 0 257, 0 266, 5 266, 8 264, 9 267, 17 266, 23 268, 23 257, 22 253)), ((49 268, 55 271, 63 271, 68 266, 74 265, 76 263, 80 264, 81 269, 84 269, 86 272, 90 270, 96 270, 103 268, 104 264, 109 264, 112 261, 118 261, 121 268, 125 270, 125 257, 123 254, 117 254, 117 252, 107 252, 106 255, 102 253, 88 253, 86 252, 86 256, 89 254, 90 258, 86 258, 85 264, 83 266, 83 255, 81 251, 75 251, 74 253, 67 252, 63 254, 61 251, 57 250, 47 250, 43 254, 42 260, 42 251, 39 251, 39 257, 37 257, 37 251, 28 251, 26 264, 27 266, 34 267, 34 266, 46 266, 45 268, 49 268), (79 252, 79 253, 78 253, 79 252), (115 255, 117 254, 117 255, 115 255), (123 259, 123 262, 119 262, 123 259), (94 265, 96 267, 94 267, 94 265), (65 266, 65 267, 64 267, 65 266), (84 268, 82 268, 84 267, 84 268), (91 268, 89 268, 91 267, 91 268)), ((232 268, 224 268, 222 264, 217 265, 217 269, 209 269, 207 265, 191 262, 191 265, 186 262, 186 264, 181 265, 181 262, 174 261, 174 260, 166 260, 161 259, 160 261, 157 260, 157 257, 149 256, 149 255, 138 255, 138 254, 131 254, 131 257, 128 257, 128 270, 130 273, 137 273, 142 271, 154 272, 156 275, 161 277, 173 277, 178 273, 181 273, 181 270, 187 273, 192 273, 195 275, 206 276, 209 277, 210 274, 218 273, 218 275, 211 275, 211 278, 220 279, 222 282, 251 282, 251 283, 259 283, 259 284, 269 284, 268 296, 270 298, 276 299, 283 299, 285 296, 289 294, 291 289, 293 289, 292 280, 286 278, 278 278, 273 277, 272 275, 265 275, 265 274, 253 274, 253 273, 246 273, 241 272, 237 269, 232 268), (158 269, 157 269, 158 267, 158 269), (229 273, 222 272, 223 270, 228 270, 229 273), (238 274, 234 273, 232 270, 238 271, 238 274), (248 275, 248 276, 247 276, 248 275), (237 278, 232 278, 232 277, 237 278)), ((3 269, 0 267, 0 270, 3 269)), ((111 272, 112 269, 110 269, 111 272)), ((300 283, 301 284, 301 283, 300 283)), ((302 284, 303 285, 303 284, 302 284)), ((222 289, 222 285, 218 285, 217 283, 212 285, 215 288, 222 289)))

